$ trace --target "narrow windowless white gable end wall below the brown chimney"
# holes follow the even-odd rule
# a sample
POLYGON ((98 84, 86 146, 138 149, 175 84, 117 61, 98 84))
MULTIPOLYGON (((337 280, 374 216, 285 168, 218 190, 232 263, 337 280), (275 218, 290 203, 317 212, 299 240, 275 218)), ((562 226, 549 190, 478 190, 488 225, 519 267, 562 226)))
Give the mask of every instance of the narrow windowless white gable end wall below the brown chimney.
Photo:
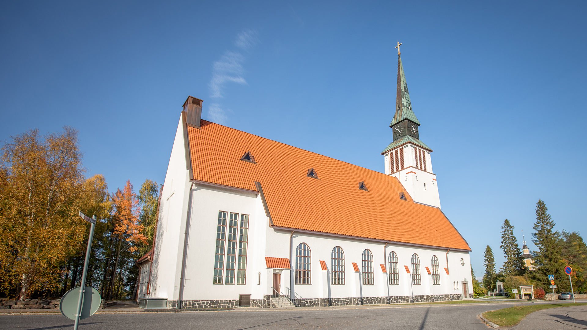
POLYGON ((189 179, 189 171, 185 168, 183 122, 180 117, 161 191, 149 297, 177 298, 183 248, 180 242, 183 242, 181 234, 185 227, 189 179))

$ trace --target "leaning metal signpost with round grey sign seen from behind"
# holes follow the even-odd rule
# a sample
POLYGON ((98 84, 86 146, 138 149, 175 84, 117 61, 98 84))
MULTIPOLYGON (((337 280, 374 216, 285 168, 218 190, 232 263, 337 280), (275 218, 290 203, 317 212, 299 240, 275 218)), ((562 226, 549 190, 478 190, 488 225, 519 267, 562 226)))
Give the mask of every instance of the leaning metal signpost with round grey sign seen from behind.
POLYGON ((66 316, 67 318, 73 319, 75 321, 75 324, 73 324, 73 330, 77 330, 80 319, 85 319, 94 314, 100 305, 99 292, 92 287, 86 287, 87 267, 90 261, 92 240, 94 238, 94 229, 96 227, 96 215, 90 218, 83 214, 82 211, 80 211, 79 216, 82 217, 83 220, 86 220, 90 223, 90 235, 87 239, 86 260, 83 262, 82 283, 79 287, 72 288, 66 292, 65 295, 63 295, 59 307, 63 316, 66 316), (78 292, 77 295, 76 291, 78 292), (76 301, 77 304, 75 304, 76 301), (73 309, 74 305, 76 306, 75 309, 73 309))

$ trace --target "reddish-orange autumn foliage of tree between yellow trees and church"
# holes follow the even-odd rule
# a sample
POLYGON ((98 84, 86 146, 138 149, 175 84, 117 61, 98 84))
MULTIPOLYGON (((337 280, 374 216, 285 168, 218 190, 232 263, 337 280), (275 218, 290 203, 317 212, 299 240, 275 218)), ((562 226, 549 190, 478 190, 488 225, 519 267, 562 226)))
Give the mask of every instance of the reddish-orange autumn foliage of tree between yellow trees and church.
POLYGON ((148 244, 144 235, 144 226, 139 223, 139 198, 133 191, 130 180, 126 181, 123 190, 117 189, 112 195, 114 234, 120 235, 134 252, 137 245, 148 244))

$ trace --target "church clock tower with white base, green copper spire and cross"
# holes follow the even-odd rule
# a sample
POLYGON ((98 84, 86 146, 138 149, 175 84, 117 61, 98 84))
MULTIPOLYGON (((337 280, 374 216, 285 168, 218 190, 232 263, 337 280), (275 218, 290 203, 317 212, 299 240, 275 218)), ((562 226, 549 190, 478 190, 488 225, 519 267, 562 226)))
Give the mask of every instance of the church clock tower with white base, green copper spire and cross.
POLYGON ((420 122, 411 109, 410 94, 397 43, 397 95, 392 123, 393 142, 383 150, 385 174, 397 177, 418 203, 440 208, 436 174, 432 172, 432 149, 420 141, 420 122))

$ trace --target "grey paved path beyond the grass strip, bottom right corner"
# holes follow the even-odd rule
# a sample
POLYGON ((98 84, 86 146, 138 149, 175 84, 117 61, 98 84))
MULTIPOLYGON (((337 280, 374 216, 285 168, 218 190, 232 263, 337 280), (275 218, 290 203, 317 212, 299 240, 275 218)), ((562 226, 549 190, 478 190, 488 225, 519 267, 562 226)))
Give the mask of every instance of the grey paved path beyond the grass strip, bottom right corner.
POLYGON ((526 316, 512 330, 571 330, 587 329, 587 306, 542 309, 526 316))

